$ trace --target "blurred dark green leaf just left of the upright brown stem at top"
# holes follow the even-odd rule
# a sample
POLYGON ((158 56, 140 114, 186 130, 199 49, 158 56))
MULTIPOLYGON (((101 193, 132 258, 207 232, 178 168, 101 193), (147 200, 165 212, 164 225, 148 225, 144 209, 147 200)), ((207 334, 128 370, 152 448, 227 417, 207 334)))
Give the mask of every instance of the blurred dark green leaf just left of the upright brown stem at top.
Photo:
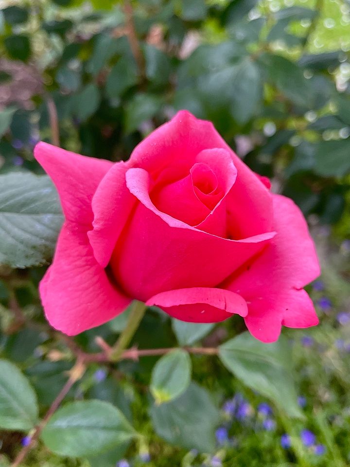
POLYGON ((122 57, 108 75, 105 91, 109 98, 118 98, 138 82, 138 72, 133 60, 122 57))

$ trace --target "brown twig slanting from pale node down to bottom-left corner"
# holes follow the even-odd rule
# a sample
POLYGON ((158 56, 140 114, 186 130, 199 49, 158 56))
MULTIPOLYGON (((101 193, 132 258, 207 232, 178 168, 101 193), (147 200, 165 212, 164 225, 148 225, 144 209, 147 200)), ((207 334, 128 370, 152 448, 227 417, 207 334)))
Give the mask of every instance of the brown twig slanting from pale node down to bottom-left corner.
POLYGON ((73 384, 78 381, 85 373, 86 367, 85 367, 85 362, 81 359, 77 360, 76 364, 73 366, 73 368, 70 370, 70 377, 66 384, 63 386, 61 392, 55 400, 53 401, 50 409, 46 413, 45 417, 42 419, 42 421, 39 423, 39 425, 36 426, 35 431, 33 435, 31 436, 31 440, 27 446, 23 446, 23 448, 18 452, 18 455, 16 459, 13 461, 11 464, 11 467, 18 467, 20 466, 21 462, 24 460, 28 452, 34 447, 35 441, 38 439, 40 436, 41 431, 43 431, 45 425, 48 423, 50 418, 53 416, 53 414, 56 412, 58 407, 60 406, 61 402, 63 399, 66 397, 66 395, 69 393, 71 387, 73 384))

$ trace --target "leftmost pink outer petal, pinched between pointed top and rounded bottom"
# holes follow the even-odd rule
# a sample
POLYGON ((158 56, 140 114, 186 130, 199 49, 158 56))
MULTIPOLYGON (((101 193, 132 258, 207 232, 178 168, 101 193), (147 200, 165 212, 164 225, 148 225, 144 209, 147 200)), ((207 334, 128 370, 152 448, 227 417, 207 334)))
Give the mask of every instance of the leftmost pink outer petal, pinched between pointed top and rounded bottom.
POLYGON ((74 335, 105 323, 130 302, 109 282, 87 236, 92 196, 112 163, 46 143, 36 145, 35 158, 53 179, 66 216, 40 297, 53 327, 74 335))

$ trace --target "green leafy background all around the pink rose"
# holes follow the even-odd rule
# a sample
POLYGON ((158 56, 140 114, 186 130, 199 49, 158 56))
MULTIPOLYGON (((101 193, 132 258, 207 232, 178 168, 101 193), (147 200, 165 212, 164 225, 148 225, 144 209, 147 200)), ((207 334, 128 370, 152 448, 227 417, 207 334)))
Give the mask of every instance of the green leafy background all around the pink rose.
MULTIPOLYGON (((124 457, 136 467, 347 466, 349 1, 2 0, 0 8, 0 466, 11 465, 74 363, 37 296, 62 218, 49 180, 35 177, 43 173, 35 143, 126 160, 181 108, 211 120, 309 219, 324 271, 324 288, 312 290, 321 324, 285 332, 293 341, 277 344, 277 360, 266 346, 253 349, 263 360, 256 365, 240 357, 241 346, 255 344, 235 337, 239 320, 191 328, 149 310, 134 337, 140 348, 225 342, 223 364, 179 350, 156 367, 154 357, 91 363, 23 465, 113 467, 124 457), (236 392, 249 410, 229 421, 220 407, 236 392), (257 411, 266 399, 271 431, 257 411), (214 437, 219 425, 229 428, 223 445, 214 437), (315 431, 325 454, 302 445, 303 428, 315 431), (290 449, 280 446, 285 432, 290 449)), ((114 320, 73 342, 96 352, 95 336, 113 343, 124 325, 114 320)))

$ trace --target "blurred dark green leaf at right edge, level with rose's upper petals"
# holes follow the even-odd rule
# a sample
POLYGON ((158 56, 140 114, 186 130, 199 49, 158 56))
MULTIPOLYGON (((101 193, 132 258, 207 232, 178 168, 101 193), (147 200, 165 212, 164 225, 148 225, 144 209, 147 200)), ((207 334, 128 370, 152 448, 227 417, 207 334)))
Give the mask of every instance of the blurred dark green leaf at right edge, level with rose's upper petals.
POLYGON ((350 173, 350 139, 322 141, 316 145, 315 172, 323 177, 343 177, 350 173))

